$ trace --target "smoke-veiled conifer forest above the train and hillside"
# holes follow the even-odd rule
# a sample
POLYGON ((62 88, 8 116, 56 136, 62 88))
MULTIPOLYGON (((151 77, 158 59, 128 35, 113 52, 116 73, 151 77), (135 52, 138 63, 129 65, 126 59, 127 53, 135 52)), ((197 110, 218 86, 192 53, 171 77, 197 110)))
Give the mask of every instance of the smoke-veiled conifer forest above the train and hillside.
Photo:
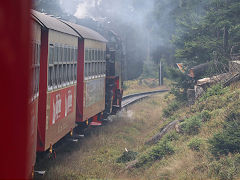
POLYGON ((34 9, 116 32, 125 49, 127 79, 156 74, 151 64, 159 61, 166 67, 226 64, 240 38, 238 0, 34 0, 34 9))

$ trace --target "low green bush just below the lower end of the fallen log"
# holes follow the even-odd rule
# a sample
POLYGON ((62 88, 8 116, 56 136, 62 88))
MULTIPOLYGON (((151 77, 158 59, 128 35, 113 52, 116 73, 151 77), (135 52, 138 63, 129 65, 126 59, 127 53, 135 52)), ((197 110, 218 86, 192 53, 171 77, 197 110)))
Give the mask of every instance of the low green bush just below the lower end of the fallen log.
POLYGON ((135 166, 141 167, 146 163, 160 160, 167 155, 173 154, 174 152, 174 147, 171 145, 170 142, 166 140, 160 141, 150 151, 145 152, 142 156, 140 156, 139 161, 135 166))

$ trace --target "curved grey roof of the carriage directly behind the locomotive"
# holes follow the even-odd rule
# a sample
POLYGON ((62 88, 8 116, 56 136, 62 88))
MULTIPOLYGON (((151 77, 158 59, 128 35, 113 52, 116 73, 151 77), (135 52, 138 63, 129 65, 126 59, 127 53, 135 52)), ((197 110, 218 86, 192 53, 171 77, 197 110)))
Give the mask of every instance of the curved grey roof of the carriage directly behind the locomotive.
POLYGON ((61 20, 61 21, 66 25, 68 25, 69 27, 71 27, 83 39, 95 40, 100 42, 108 42, 102 35, 100 35, 98 32, 88 27, 81 26, 79 24, 75 24, 72 22, 64 21, 64 20, 61 20))

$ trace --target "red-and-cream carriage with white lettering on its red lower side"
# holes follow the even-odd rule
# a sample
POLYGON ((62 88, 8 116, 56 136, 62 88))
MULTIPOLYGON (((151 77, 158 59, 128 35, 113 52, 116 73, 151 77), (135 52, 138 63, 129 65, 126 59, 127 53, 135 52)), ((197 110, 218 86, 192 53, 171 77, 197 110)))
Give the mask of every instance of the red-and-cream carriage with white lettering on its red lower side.
POLYGON ((56 18, 32 11, 41 30, 37 151, 75 127, 78 34, 56 18))

